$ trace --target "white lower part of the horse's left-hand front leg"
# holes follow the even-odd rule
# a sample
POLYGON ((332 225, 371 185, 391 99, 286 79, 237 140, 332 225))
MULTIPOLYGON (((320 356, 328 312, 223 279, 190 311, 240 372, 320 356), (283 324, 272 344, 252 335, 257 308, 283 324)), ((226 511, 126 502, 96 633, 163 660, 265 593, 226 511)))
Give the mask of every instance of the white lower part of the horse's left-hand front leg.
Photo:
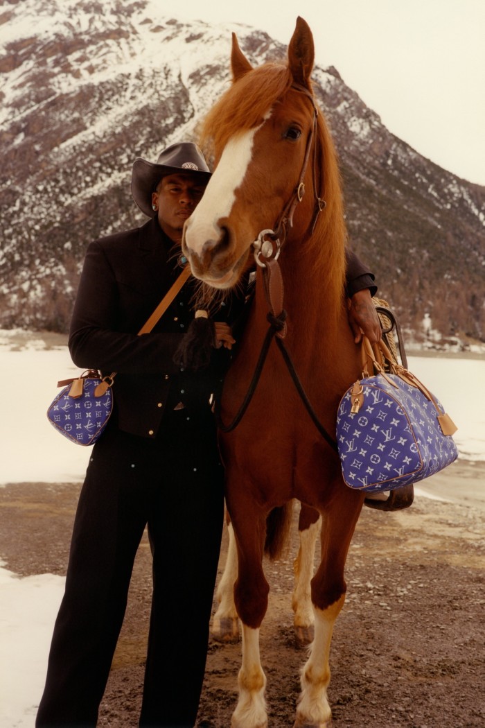
POLYGON ((260 661, 260 630, 242 625, 242 664, 238 676, 239 700, 231 720, 231 728, 265 728, 266 676, 260 661))

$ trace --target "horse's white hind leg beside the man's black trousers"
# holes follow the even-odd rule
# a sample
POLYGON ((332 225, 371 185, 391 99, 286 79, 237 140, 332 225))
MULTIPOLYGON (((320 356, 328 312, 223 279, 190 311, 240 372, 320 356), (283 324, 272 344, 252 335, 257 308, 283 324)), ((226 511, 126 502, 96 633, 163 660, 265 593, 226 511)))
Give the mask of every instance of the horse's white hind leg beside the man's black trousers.
POLYGON ((238 554, 232 523, 228 523, 228 555, 217 587, 219 606, 212 620, 212 636, 220 642, 239 641, 239 619, 234 604, 234 582, 238 576, 238 554))

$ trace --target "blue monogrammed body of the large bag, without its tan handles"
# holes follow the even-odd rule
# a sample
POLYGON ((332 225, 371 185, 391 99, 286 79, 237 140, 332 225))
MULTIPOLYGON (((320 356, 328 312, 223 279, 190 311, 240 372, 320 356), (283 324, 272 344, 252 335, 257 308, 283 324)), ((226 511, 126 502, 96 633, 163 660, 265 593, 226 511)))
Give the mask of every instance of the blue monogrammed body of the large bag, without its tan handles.
POLYGON ((458 456, 451 435, 441 432, 433 403, 396 374, 387 376, 398 389, 379 374, 362 379, 364 404, 358 413, 350 412, 350 387, 337 414, 343 479, 368 493, 416 483, 458 456))

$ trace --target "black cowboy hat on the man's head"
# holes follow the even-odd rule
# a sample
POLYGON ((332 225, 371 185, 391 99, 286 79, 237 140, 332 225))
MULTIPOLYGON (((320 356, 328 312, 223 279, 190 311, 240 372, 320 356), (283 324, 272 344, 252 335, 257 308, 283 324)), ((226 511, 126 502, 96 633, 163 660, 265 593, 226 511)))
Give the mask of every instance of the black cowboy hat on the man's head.
POLYGON ((180 172, 199 173, 201 179, 206 182, 210 179, 211 173, 204 155, 192 142, 172 144, 161 152, 156 164, 147 162, 141 157, 135 159, 132 170, 132 197, 140 210, 149 218, 153 217, 151 194, 155 191, 156 185, 165 175, 180 172))

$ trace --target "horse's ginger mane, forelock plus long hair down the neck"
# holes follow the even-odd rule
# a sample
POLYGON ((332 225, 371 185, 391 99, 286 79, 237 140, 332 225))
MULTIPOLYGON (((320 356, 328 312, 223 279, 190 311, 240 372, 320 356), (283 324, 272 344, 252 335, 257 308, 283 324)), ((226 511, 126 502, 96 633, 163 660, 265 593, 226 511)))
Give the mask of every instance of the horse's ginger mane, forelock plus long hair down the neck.
MULTIPOLYGON (((292 83, 289 68, 279 63, 265 63, 237 79, 212 107, 201 126, 200 143, 207 157, 213 158, 215 154, 220 154, 237 132, 261 124, 268 110, 284 98, 292 83)), ((318 215, 315 234, 308 237, 303 247, 305 254, 311 256, 312 271, 322 280, 324 277, 329 301, 334 301, 336 313, 341 306, 345 280, 347 234, 337 154, 320 110, 316 145, 316 165, 320 170, 317 175, 320 189, 316 194, 322 196, 326 207, 318 215)), ((306 194, 310 197, 313 192, 308 189, 306 194)), ((332 308, 332 304, 330 306, 332 308)), ((328 309, 327 313, 330 313, 328 309)))

